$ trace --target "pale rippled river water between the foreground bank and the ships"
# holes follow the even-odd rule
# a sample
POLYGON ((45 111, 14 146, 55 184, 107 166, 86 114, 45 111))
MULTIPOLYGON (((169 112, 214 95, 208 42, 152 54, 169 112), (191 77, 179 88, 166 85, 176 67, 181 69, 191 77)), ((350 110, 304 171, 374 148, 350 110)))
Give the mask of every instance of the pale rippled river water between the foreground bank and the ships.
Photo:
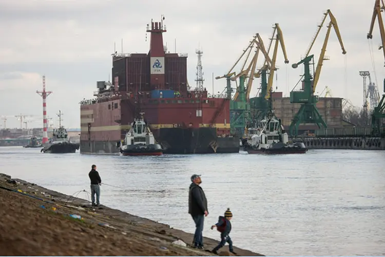
POLYGON ((91 164, 102 182, 116 186, 102 185, 102 204, 174 228, 195 230, 187 199, 197 173, 209 205, 204 236, 219 239, 209 227, 230 208, 230 235, 241 248, 265 255, 385 255, 385 151, 124 157, 0 148, 0 172, 68 195, 89 191, 91 164))

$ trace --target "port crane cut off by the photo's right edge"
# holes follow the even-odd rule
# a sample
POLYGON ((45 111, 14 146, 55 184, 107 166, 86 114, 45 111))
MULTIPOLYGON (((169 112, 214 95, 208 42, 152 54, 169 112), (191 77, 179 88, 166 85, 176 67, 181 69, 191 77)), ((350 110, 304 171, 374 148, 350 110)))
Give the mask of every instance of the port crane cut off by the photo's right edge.
MULTIPOLYGON (((372 15, 372 21, 370 24, 370 29, 369 33, 367 35, 368 39, 373 38, 373 28, 374 28, 374 23, 376 21, 376 17, 378 19, 378 26, 380 29, 380 35, 381 35, 381 46, 379 49, 382 48, 383 56, 385 58, 385 30, 383 27, 383 21, 382 21, 382 16, 381 16, 381 11, 384 11, 384 3, 381 0, 376 0, 374 3, 374 10, 373 10, 373 15, 372 15), (381 6, 382 4, 382 6, 381 6)), ((385 66, 385 65, 384 65, 385 66)), ((372 114, 372 135, 375 137, 378 136, 385 136, 385 125, 384 125, 384 119, 385 118, 385 79, 383 80, 383 95, 381 100, 379 101, 378 105, 374 107, 374 112, 372 114)))

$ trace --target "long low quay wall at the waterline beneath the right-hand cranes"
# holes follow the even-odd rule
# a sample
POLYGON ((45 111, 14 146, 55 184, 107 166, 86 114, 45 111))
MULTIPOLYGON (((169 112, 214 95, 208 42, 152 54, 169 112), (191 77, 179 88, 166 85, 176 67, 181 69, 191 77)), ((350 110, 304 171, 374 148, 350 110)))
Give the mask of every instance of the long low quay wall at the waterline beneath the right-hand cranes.
POLYGON ((309 149, 385 150, 385 138, 379 137, 295 138, 292 141, 303 142, 309 149))

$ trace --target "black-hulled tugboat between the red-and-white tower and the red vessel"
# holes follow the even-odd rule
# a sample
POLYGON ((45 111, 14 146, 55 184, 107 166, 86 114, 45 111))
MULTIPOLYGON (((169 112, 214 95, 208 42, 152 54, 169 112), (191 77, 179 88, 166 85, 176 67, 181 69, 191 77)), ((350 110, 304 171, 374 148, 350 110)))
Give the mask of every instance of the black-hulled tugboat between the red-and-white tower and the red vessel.
POLYGON ((62 112, 59 111, 59 128, 56 128, 53 131, 52 138, 49 140, 48 145, 41 150, 43 153, 52 153, 52 154, 66 154, 66 153, 75 153, 76 150, 79 150, 79 144, 73 143, 68 139, 67 130, 62 126, 62 112))

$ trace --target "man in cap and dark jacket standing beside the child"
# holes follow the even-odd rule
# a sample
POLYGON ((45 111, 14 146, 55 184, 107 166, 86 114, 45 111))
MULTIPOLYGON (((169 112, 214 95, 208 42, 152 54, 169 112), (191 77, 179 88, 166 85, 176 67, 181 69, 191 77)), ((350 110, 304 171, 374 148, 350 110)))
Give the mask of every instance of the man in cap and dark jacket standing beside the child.
POLYGON ((203 249, 203 223, 204 217, 208 215, 207 199, 203 189, 199 186, 202 183, 201 175, 191 176, 191 185, 188 192, 188 213, 195 222, 194 248, 203 249))

